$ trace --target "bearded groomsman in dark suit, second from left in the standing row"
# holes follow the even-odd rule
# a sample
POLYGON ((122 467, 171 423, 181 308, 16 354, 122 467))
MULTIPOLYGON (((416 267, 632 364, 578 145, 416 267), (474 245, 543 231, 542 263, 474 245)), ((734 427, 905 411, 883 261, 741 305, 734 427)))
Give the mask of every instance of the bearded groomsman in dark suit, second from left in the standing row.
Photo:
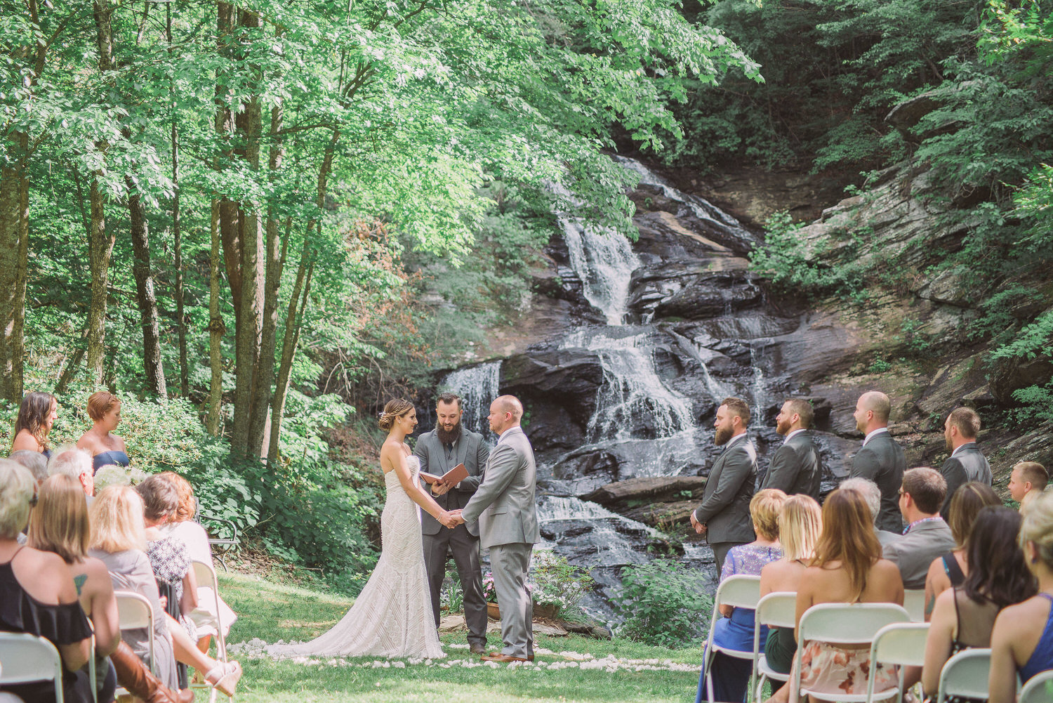
POLYGON ((786 440, 772 454, 761 489, 778 488, 787 495, 802 493, 819 501, 822 460, 809 431, 812 417, 812 404, 808 401, 790 398, 782 404, 775 417, 775 431, 786 440))

